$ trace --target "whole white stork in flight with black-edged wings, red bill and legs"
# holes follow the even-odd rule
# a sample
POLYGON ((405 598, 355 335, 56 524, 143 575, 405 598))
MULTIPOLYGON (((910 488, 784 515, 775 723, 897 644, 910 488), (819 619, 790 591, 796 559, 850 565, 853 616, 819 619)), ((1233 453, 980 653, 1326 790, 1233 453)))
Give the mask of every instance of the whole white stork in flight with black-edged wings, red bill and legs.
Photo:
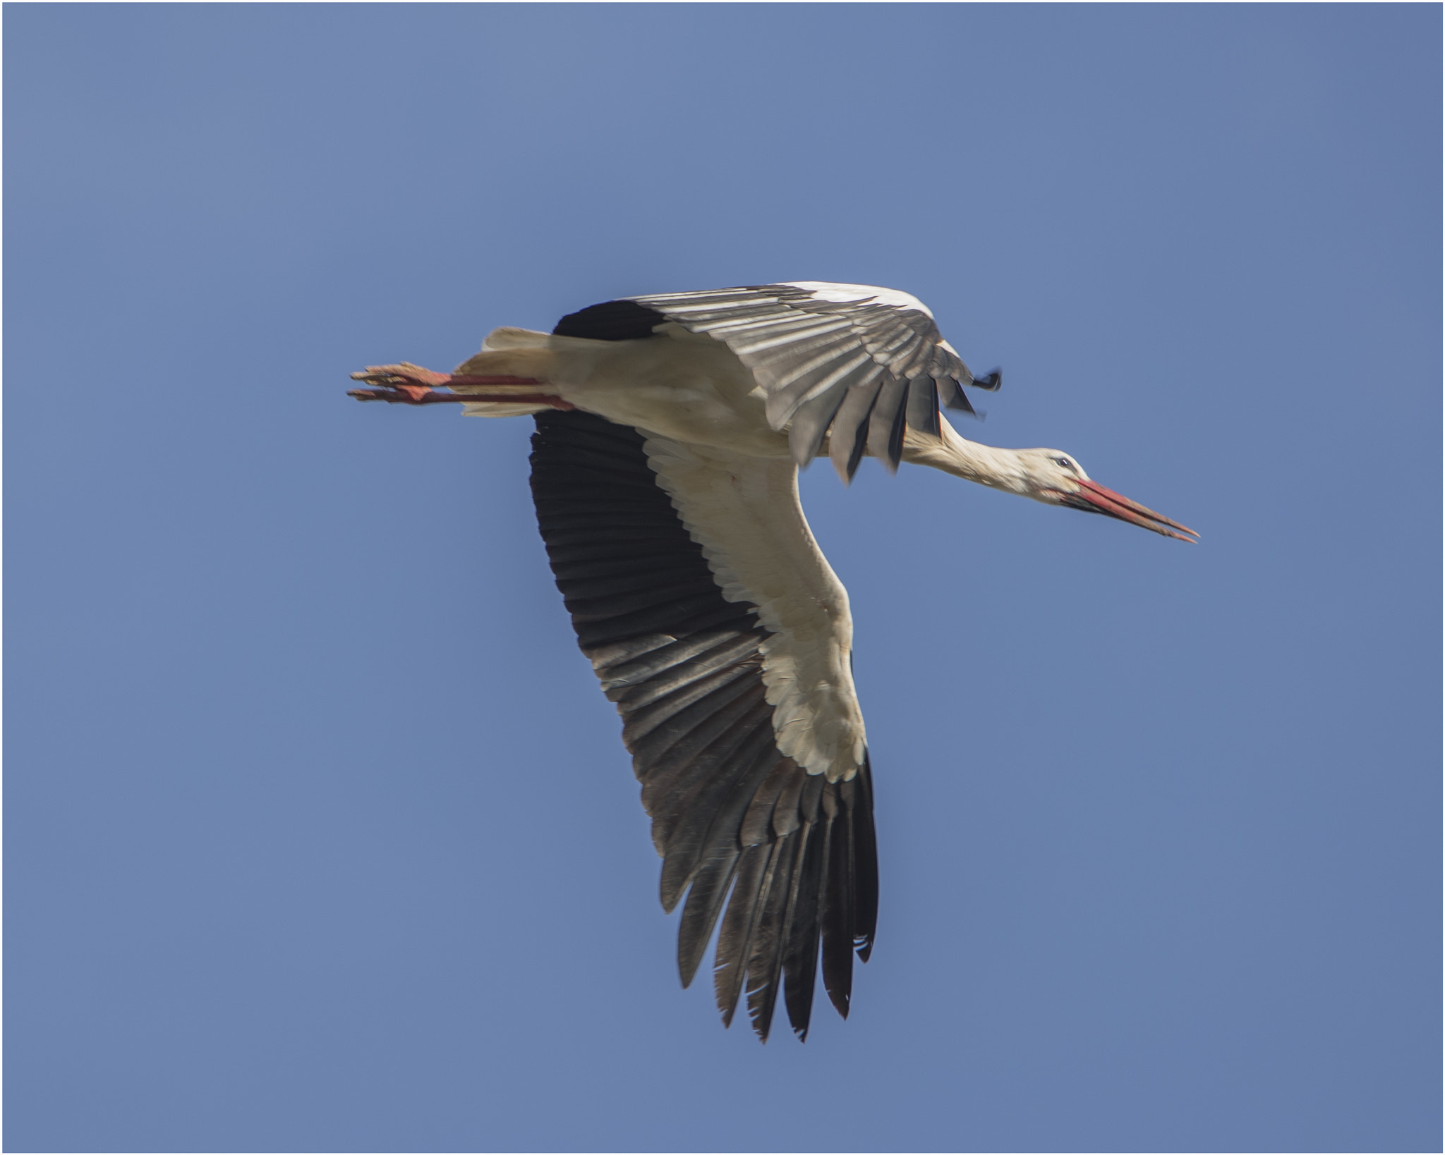
POLYGON ((451 375, 412 364, 353 378, 363 401, 460 401, 536 414, 532 495, 582 653, 623 718, 683 902, 692 982, 721 914, 724 1025, 746 990, 766 1041, 779 990, 806 1038, 822 956, 847 1016, 853 957, 877 921, 873 777, 853 686, 848 593, 798 501, 798 466, 844 481, 864 456, 931 465, 1049 505, 1194 540, 1056 449, 964 440, 975 378, 916 297, 790 282, 624 297, 551 334, 494 329, 451 375), (444 391, 447 390, 447 391, 444 391))

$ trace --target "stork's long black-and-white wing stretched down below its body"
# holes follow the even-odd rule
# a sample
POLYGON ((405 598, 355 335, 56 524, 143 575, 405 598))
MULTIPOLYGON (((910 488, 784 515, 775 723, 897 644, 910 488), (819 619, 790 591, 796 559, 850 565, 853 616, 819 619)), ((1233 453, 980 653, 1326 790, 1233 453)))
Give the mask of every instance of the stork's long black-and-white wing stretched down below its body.
POLYGON ((828 996, 847 1015, 853 956, 867 960, 877 921, 847 595, 796 510, 796 488, 793 508, 772 501, 731 541, 709 540, 689 514, 705 520, 708 492, 722 502, 733 494, 741 504, 731 515, 746 518, 747 484, 762 474, 728 474, 725 461, 590 413, 548 411, 536 423, 542 539, 582 653, 623 716, 663 858, 662 904, 670 911, 685 895, 682 982, 721 915, 724 1024, 746 990, 766 1040, 785 989, 788 1018, 806 1037, 819 954, 828 996), (776 573, 743 556, 744 539, 762 541, 776 573))

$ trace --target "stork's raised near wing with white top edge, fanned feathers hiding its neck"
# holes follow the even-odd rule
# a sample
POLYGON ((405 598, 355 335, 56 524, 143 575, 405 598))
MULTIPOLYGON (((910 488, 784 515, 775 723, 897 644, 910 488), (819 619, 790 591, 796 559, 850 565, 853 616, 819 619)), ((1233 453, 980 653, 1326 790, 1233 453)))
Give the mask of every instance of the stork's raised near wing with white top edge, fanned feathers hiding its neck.
POLYGON ((972 413, 962 387, 998 387, 997 372, 975 380, 928 306, 894 289, 792 282, 629 300, 725 342, 763 390, 769 424, 789 429, 793 459, 806 465, 831 436, 847 478, 864 450, 896 468, 905 427, 938 436, 939 391, 972 413))

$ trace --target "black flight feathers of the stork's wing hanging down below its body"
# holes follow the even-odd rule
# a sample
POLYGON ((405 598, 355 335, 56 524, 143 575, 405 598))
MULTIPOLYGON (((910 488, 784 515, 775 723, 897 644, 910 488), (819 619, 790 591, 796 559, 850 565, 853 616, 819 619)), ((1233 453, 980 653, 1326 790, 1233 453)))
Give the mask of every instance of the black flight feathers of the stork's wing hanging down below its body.
MULTIPOLYGON (((613 312, 617 326, 607 321, 574 335, 650 331, 636 334, 627 328, 636 316, 613 312)), ((623 716, 663 856, 663 907, 670 911, 686 892, 682 982, 692 980, 722 914, 714 982, 724 1022, 746 980, 753 1027, 767 1038, 786 985, 788 1018, 806 1035, 819 944, 824 986, 844 1015, 854 950, 866 960, 873 944, 867 758, 829 781, 779 749, 764 674, 780 635, 736 589, 734 599, 724 596, 659 485, 643 435, 584 411, 548 411, 536 422, 532 492, 552 570, 582 653, 623 716)), ((795 706, 796 718, 811 709, 795 706)), ((799 748, 799 757, 821 755, 799 748)))

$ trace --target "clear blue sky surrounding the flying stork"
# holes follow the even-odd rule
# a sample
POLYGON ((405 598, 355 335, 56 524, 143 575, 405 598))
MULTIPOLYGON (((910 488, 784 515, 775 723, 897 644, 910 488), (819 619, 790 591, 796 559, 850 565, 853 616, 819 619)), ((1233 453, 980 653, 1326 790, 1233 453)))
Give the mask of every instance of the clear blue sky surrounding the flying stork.
POLYGON ((1436 6, 7 6, 7 1148, 1439 1143, 1436 6), (722 1031, 494 325, 907 289, 971 436, 805 500, 883 914, 722 1031))

